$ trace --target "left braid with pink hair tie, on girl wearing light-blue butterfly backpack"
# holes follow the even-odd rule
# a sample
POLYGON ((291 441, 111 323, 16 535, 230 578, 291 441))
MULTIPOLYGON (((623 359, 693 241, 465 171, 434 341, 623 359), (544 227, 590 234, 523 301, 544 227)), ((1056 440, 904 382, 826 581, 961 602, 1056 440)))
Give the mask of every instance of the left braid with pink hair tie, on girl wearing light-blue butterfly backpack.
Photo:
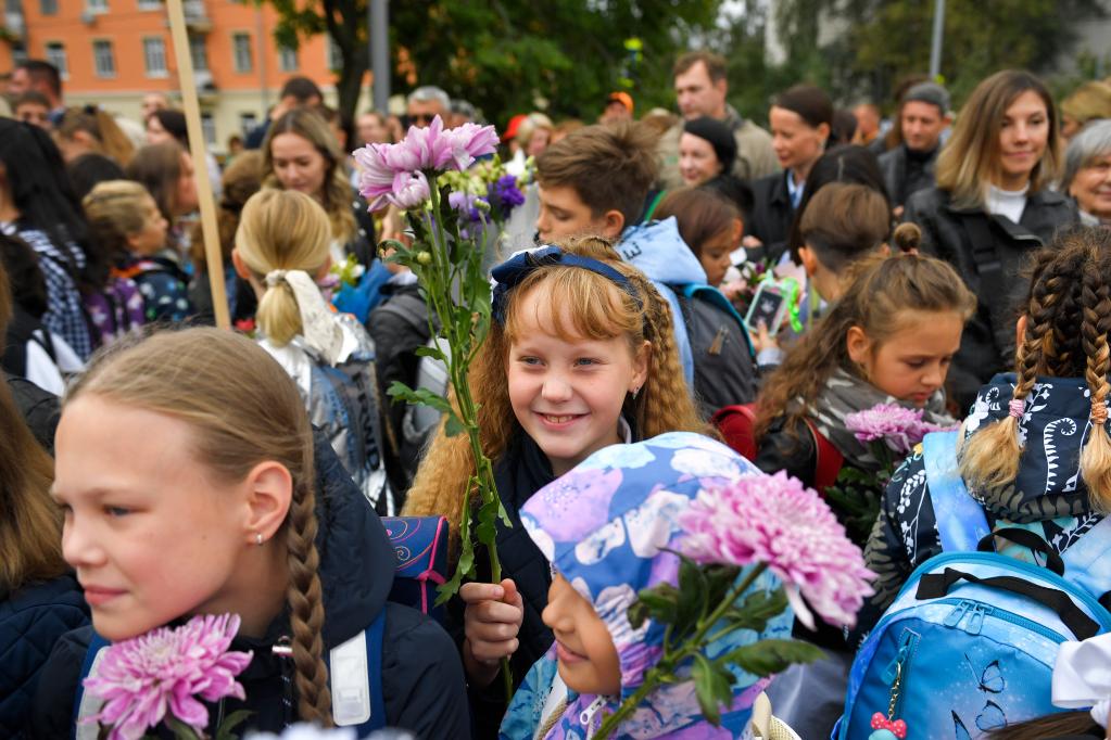
MULTIPOLYGON (((1038 372, 1045 365, 1045 345, 1053 339, 1053 318, 1059 311, 1061 281, 1055 274, 1044 273, 1037 280, 1027 304, 1027 330, 1015 353, 1018 383, 1014 401, 1030 395, 1038 379, 1038 372)), ((1013 402, 1012 402, 1013 403, 1013 402)), ((961 449, 961 476, 972 488, 995 488, 1019 474, 1019 419, 1012 412, 968 439, 961 449)))

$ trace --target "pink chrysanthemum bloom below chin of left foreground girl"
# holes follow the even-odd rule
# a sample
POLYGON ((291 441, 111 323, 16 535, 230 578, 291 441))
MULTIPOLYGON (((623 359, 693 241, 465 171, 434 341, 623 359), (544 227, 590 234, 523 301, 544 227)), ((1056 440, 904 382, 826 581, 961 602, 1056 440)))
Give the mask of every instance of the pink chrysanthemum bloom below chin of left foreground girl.
POLYGON ((229 652, 236 615, 197 616, 177 629, 156 629, 108 648, 86 690, 104 700, 88 721, 110 726, 109 740, 134 740, 170 714, 200 734, 208 709, 200 702, 243 698, 236 681, 250 652, 229 652))

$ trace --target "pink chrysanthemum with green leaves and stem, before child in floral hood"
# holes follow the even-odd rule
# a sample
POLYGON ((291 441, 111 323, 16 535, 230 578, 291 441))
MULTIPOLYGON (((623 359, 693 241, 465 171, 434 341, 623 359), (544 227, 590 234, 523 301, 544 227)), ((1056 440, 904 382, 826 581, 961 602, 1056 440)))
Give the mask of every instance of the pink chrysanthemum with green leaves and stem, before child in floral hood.
POLYGON ((785 473, 742 476, 699 494, 680 515, 679 588, 663 582, 638 595, 633 629, 645 619, 667 625, 663 656, 597 738, 613 733, 653 690, 693 680, 699 707, 718 724, 733 699, 731 667, 767 677, 822 651, 800 640, 761 640, 711 657, 707 648, 741 629, 761 631, 790 604, 813 628, 810 607, 833 625, 852 625, 874 575, 829 506, 785 473), (773 594, 742 596, 764 570, 783 584, 773 594), (808 607, 809 604, 809 607, 808 607))

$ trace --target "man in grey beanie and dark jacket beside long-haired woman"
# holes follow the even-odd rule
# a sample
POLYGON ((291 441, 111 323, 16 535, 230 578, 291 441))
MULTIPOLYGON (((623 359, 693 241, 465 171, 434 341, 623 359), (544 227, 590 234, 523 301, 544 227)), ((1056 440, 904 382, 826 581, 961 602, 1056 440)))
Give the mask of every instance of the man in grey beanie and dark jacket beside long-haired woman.
POLYGON ((951 121, 949 92, 940 84, 920 82, 903 95, 898 122, 902 143, 880 154, 880 170, 897 211, 911 194, 933 186, 941 133, 951 121))

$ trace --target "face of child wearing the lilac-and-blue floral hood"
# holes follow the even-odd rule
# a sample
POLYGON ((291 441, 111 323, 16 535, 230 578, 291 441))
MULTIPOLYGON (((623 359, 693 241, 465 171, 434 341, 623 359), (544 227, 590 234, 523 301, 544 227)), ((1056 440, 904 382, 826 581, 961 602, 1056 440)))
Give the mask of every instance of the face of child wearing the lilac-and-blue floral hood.
POLYGON ((548 589, 543 620, 556 635, 559 675, 579 693, 614 697, 621 692, 621 663, 613 637, 588 601, 563 576, 548 589))

